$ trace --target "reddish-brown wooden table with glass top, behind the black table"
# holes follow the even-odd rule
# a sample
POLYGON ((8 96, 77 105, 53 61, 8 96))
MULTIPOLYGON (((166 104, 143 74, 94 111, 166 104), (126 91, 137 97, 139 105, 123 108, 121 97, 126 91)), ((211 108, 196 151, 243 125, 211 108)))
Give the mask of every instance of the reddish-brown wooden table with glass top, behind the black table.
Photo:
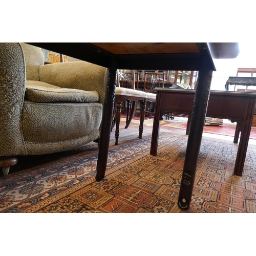
MULTIPOLYGON (((162 116, 170 112, 191 115, 195 90, 156 88, 154 91, 157 93, 157 99, 150 154, 156 156, 162 116)), ((210 91, 207 117, 230 119, 231 122, 238 122, 242 125, 234 175, 242 176, 243 173, 255 103, 256 93, 210 91)), ((190 151, 188 155, 193 158, 193 151, 190 151)))

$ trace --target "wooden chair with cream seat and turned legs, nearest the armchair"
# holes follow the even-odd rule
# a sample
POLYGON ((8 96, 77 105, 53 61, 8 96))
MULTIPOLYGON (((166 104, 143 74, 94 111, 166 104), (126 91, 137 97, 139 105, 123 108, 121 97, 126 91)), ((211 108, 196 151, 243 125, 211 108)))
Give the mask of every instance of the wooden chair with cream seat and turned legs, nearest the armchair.
MULTIPOLYGON (((127 73, 118 72, 118 75, 117 75, 117 87, 116 87, 115 105, 114 105, 114 113, 113 113, 114 118, 112 123, 112 130, 114 125, 116 125, 115 145, 118 145, 119 125, 121 120, 121 108, 124 101, 127 102, 126 125, 125 125, 126 129, 129 127, 135 115, 135 112, 137 109, 137 103, 140 102, 139 139, 142 138, 146 99, 147 99, 147 96, 150 96, 150 95, 148 95, 143 91, 139 91, 135 89, 135 80, 136 80, 135 75, 138 78, 139 72, 135 72, 135 70, 127 73), (131 108, 131 102, 133 102, 132 108, 131 108)), ((138 82, 136 87, 138 87, 138 82)))

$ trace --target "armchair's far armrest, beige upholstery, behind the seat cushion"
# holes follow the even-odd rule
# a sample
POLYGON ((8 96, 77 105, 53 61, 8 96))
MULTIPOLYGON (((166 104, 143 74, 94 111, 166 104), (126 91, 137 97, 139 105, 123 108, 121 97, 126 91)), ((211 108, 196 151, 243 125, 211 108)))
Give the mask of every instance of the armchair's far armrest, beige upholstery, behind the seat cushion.
POLYGON ((39 80, 61 88, 96 91, 103 103, 107 69, 86 61, 62 62, 39 67, 39 80))

